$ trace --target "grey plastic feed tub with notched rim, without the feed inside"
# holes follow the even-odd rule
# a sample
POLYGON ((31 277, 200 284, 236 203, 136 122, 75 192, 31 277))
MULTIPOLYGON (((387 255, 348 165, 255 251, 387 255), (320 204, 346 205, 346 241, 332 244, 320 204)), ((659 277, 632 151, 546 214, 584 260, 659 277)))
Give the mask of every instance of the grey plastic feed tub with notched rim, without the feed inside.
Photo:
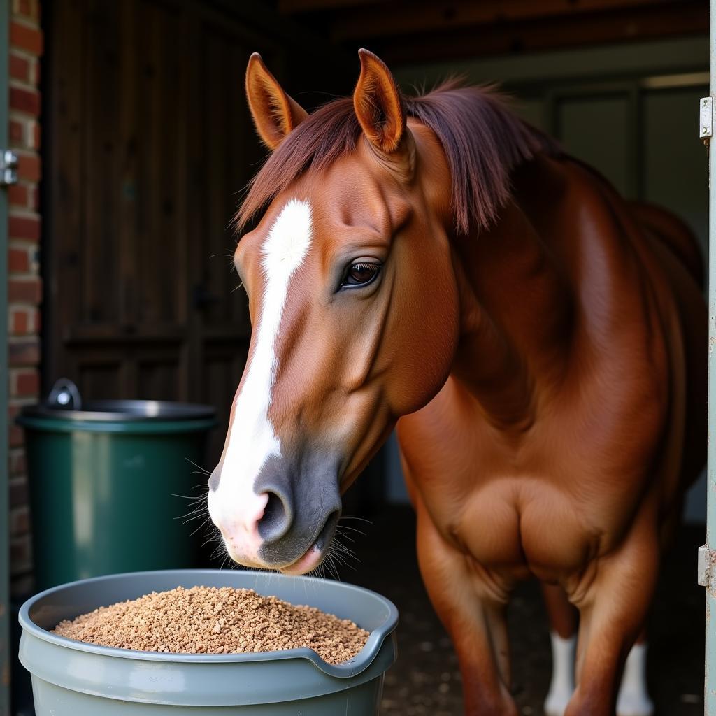
POLYGON ((20 610, 20 661, 37 716, 372 716, 395 662, 397 609, 341 582, 213 569, 134 572, 37 594, 20 610), (371 632, 357 657, 326 664, 312 649, 259 654, 159 654, 97 647, 51 634, 72 619, 176 586, 233 586, 309 604, 371 632))

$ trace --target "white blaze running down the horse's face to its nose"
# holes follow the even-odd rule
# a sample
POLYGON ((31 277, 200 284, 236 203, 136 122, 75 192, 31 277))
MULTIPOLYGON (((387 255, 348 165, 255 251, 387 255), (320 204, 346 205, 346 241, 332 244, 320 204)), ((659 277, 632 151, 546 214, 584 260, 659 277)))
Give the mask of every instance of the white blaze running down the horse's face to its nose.
POLYGON ((224 538, 231 541, 230 551, 232 547, 240 548, 247 557, 255 554, 260 543, 256 516, 266 505, 266 497, 253 492, 253 483, 266 460, 281 455, 279 438, 269 420, 278 367, 276 337, 291 276, 303 263, 310 243, 311 206, 291 199, 274 221, 261 248, 264 290, 253 355, 236 397, 218 489, 209 490, 208 507, 213 522, 221 528, 224 538))

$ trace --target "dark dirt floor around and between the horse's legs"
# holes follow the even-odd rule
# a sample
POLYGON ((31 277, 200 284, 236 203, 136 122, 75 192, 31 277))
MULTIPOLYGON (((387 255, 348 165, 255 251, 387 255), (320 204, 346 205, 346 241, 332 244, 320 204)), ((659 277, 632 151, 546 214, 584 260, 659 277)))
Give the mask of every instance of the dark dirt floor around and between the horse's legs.
MULTIPOLYGON (((420 580, 410 508, 390 508, 351 545, 357 569, 344 581, 379 591, 400 611, 399 656, 385 679, 382 716, 463 716, 458 663, 420 580)), ((683 528, 664 561, 650 622, 649 684, 657 716, 703 714, 704 591, 696 584, 702 528, 683 528)), ((541 715, 551 674, 546 615, 536 583, 516 591, 509 612, 513 694, 524 715, 541 715)))

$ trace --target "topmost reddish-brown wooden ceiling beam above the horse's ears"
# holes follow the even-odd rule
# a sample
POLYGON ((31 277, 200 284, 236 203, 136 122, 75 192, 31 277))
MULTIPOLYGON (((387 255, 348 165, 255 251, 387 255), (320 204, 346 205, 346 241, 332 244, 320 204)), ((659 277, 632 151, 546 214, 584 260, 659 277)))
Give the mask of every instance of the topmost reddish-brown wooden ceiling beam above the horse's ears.
MULTIPOLYGON (((407 3, 400 1, 372 11, 364 9, 337 14, 332 21, 332 38, 337 42, 414 32, 441 32, 477 25, 509 23, 581 16, 594 12, 621 11, 641 7, 658 11, 669 4, 681 6, 682 0, 458 0, 453 2, 407 3)), ((705 11, 707 10, 703 3, 705 11)))

